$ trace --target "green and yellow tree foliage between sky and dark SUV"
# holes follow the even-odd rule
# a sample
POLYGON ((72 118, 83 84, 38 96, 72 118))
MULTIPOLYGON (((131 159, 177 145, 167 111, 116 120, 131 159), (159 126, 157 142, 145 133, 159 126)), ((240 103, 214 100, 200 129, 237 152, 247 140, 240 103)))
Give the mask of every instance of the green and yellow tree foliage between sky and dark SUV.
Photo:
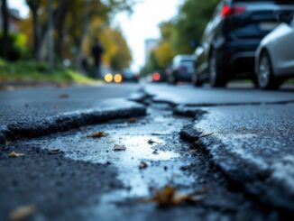
POLYGON ((186 0, 179 14, 161 23, 161 41, 147 60, 142 72, 164 69, 176 54, 193 53, 191 42, 200 41, 202 33, 219 0, 186 0))

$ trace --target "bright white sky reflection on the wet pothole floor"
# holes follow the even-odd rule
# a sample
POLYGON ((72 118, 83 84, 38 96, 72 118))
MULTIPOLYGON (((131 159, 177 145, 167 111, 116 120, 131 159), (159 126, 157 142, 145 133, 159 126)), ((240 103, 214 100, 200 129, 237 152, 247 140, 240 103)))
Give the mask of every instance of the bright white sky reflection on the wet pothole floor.
MULTIPOLYGON (((148 184, 145 182, 146 179, 142 178, 142 171, 139 169, 141 161, 146 161, 146 163, 150 164, 151 161, 169 161, 179 157, 179 154, 176 152, 157 150, 156 146, 164 144, 164 141, 155 136, 129 135, 124 136, 123 140, 115 142, 126 147, 125 152, 115 153, 119 154, 119 161, 114 161, 114 164, 119 170, 119 180, 122 180, 124 186, 130 189, 128 191, 129 197, 147 196, 149 194, 148 184)), ((156 182, 156 185, 166 182, 167 177, 162 176, 158 178, 154 174, 160 173, 160 171, 156 170, 158 169, 152 168, 152 172, 146 172, 144 176, 149 177, 150 179, 148 180, 156 182)))

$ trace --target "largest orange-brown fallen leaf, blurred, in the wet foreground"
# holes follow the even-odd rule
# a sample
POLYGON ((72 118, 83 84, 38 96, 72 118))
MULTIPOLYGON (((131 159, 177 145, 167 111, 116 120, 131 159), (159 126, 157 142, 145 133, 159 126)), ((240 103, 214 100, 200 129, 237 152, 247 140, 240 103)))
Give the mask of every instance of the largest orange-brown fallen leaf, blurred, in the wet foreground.
POLYGON ((154 196, 145 202, 155 202, 159 207, 175 207, 185 203, 197 203, 203 198, 203 194, 180 194, 177 189, 166 186, 156 191, 154 196))

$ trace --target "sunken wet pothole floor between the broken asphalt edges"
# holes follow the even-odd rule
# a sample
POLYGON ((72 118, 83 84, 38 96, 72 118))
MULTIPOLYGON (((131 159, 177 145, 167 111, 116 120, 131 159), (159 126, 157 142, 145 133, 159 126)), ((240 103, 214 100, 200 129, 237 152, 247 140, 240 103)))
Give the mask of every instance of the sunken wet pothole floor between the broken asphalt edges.
MULTIPOLYGON (((148 97, 143 103, 148 106, 145 117, 6 144, 0 155, 4 178, 0 208, 5 217, 23 205, 34 205, 32 218, 45 220, 278 220, 286 216, 248 198, 241 185, 227 180, 211 164, 207 152, 180 139, 179 131, 190 124, 190 117, 173 115, 169 105, 154 104, 148 97), (87 137, 95 132, 107 135, 87 137), (115 152, 115 144, 125 146, 125 151, 115 152), (12 159, 8 157, 12 151, 25 155, 12 159), (139 168, 141 162, 148 165, 144 170, 139 168), (180 207, 158 208, 156 203, 139 200, 151 198, 166 185, 185 193, 209 191, 197 204, 180 207)), ((202 114, 198 112, 199 117, 202 114)))

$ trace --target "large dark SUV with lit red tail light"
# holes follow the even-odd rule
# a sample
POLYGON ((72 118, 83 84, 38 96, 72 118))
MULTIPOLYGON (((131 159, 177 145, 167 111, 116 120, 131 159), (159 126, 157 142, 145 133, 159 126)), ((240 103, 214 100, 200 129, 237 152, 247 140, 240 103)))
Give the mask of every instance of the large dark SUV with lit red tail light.
POLYGON ((293 0, 225 0, 207 23, 195 51, 192 81, 201 86, 225 87, 232 78, 252 78, 254 56, 262 38, 280 24, 280 14, 291 14, 293 0))

